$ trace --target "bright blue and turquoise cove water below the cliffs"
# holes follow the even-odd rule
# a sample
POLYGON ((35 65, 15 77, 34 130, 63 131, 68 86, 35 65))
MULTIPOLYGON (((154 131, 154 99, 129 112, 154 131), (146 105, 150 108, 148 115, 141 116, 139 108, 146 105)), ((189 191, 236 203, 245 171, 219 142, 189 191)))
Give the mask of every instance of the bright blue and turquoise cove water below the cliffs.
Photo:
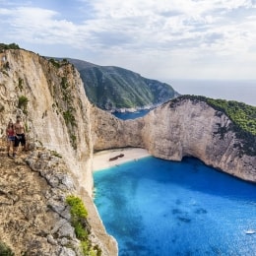
POLYGON ((146 158, 94 173, 119 255, 256 255, 256 185, 200 160, 146 158))

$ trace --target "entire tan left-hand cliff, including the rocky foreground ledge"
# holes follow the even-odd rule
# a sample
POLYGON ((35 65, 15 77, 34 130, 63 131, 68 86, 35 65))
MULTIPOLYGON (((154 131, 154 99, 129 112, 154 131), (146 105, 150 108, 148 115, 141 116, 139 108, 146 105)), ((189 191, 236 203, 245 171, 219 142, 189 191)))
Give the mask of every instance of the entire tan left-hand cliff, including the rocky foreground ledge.
MULTIPOLYGON (((20 114, 26 125, 29 148, 33 150, 32 156, 26 160, 27 165, 21 169, 15 165, 6 167, 5 164, 13 160, 1 155, 5 169, 1 184, 5 186, 0 192, 0 195, 3 194, 0 200, 3 199, 2 204, 10 205, 6 213, 6 208, 0 211, 1 239, 17 255, 21 251, 28 251, 28 255, 79 255, 70 220, 67 213, 62 213, 66 207, 65 196, 75 194, 83 198, 89 212, 93 233, 91 238, 103 255, 116 255, 116 242, 106 234, 92 199, 91 104, 78 71, 65 61, 48 61, 26 50, 4 50, 0 53, 0 98, 0 139, 5 137, 9 119, 14 120, 20 114), (38 147, 50 150, 53 155, 60 155, 64 165, 56 163, 54 156, 46 154, 45 157, 36 153, 38 147), (63 170, 68 173, 65 174, 66 178, 61 174, 63 170), (44 180, 32 174, 32 171, 38 172, 44 180), (13 182, 9 183, 12 179, 13 182), (24 182, 19 184, 19 179, 24 182), (72 182, 68 182, 69 179, 72 182), (25 186, 27 183, 28 188, 25 186), (54 184, 59 184, 64 192, 61 189, 52 191, 54 184), (21 192, 16 193, 15 186, 21 192), (20 210, 24 213, 18 215, 20 210), (11 215, 12 211, 14 213, 11 215), (27 214, 32 220, 26 219, 27 214), (2 220, 5 220, 4 223, 2 220), (16 231, 19 235, 14 239, 16 231), (68 244, 62 238, 66 238, 68 244), (68 249, 71 245, 75 248, 73 252, 68 249)), ((21 153, 16 161, 24 162, 21 153)))

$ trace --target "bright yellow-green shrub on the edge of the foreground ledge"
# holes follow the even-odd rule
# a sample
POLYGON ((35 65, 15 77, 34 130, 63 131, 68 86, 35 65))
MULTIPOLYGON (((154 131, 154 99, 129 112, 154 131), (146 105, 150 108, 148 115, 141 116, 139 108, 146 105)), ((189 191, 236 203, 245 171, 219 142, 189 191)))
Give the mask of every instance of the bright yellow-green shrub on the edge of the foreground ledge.
POLYGON ((67 204, 70 206, 71 222, 75 228, 77 238, 81 241, 81 249, 85 256, 100 256, 101 250, 93 247, 89 239, 90 225, 88 224, 88 212, 83 201, 76 196, 68 196, 67 204))

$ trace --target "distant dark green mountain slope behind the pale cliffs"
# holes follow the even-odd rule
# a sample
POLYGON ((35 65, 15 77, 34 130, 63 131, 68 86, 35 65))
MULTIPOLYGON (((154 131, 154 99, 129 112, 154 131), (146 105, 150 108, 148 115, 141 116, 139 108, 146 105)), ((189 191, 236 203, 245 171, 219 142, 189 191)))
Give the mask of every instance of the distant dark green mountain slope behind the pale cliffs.
POLYGON ((169 85, 126 69, 75 59, 68 61, 80 72, 89 99, 102 109, 151 107, 178 96, 169 85))

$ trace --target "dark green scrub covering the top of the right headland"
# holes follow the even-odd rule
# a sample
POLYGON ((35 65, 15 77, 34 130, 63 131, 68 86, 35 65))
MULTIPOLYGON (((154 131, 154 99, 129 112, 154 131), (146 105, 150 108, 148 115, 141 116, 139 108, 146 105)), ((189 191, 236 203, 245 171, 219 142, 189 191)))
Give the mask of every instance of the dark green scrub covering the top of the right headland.
POLYGON ((183 99, 205 101, 217 111, 217 115, 224 113, 232 121, 229 127, 219 127, 218 133, 224 139, 224 134, 231 130, 241 141, 237 144, 241 153, 256 156, 256 106, 247 105, 234 100, 213 99, 205 96, 179 96, 171 100, 171 106, 183 99))

